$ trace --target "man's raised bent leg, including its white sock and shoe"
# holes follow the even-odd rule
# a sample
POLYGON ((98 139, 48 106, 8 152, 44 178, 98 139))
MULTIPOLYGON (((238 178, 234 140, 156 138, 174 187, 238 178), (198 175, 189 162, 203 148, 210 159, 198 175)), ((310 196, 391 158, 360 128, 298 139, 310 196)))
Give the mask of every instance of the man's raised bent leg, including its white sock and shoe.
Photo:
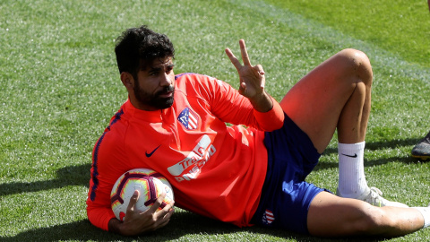
POLYGON ((344 49, 297 82, 280 101, 280 106, 320 153, 338 130, 340 195, 383 206, 407 207, 383 199, 367 185, 363 156, 372 79, 372 66, 366 54, 344 49))

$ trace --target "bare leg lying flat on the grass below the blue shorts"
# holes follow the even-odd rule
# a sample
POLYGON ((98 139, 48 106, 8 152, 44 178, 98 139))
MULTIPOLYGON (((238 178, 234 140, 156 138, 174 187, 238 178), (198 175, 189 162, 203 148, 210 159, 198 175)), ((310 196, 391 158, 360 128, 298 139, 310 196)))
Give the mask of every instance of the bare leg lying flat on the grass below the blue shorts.
POLYGON ((423 228, 424 219, 414 208, 375 207, 322 192, 309 207, 307 226, 311 235, 319 237, 395 237, 423 228))

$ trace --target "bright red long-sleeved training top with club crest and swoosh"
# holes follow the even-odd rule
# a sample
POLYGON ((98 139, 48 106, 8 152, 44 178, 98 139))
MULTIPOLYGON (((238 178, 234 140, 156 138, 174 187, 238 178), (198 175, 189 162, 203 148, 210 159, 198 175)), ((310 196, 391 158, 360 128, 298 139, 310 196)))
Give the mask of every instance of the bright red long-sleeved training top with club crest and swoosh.
POLYGON ((228 83, 206 75, 183 73, 175 79, 172 107, 144 111, 127 100, 95 144, 87 199, 95 226, 107 230, 115 218, 112 186, 136 168, 166 177, 176 206, 250 225, 267 169, 264 131, 282 126, 282 108, 272 99, 273 108, 260 113, 228 83))

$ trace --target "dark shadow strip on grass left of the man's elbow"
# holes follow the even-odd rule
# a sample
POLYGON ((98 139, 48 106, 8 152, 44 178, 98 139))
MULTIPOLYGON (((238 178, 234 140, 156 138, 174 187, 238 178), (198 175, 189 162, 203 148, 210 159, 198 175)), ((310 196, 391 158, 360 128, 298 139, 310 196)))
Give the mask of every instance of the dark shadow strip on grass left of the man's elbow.
POLYGON ((89 186, 91 164, 58 169, 56 178, 37 182, 13 182, 0 184, 0 195, 38 192, 64 186, 89 186))

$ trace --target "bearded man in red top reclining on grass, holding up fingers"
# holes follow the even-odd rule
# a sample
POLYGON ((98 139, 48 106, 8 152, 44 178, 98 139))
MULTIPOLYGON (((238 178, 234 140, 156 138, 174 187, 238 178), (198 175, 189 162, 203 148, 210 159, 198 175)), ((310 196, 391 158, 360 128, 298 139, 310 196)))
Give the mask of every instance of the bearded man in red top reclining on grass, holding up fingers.
MULTIPOLYGON (((116 220, 109 194, 125 171, 153 169, 185 210, 239 227, 283 228, 318 237, 401 236, 428 227, 428 208, 390 202, 367 186, 364 148, 373 73, 367 56, 345 49, 318 65, 278 103, 265 91, 262 65, 227 56, 239 90, 198 73, 174 73, 167 36, 126 30, 116 60, 128 99, 93 151, 87 212, 91 223, 122 235, 168 224, 173 203, 133 209, 116 220), (226 123, 232 125, 226 125, 226 123), (244 125, 246 127, 244 127, 244 125), (337 195, 305 182, 337 129, 337 195)), ((280 64, 281 65, 281 64, 280 64)))

